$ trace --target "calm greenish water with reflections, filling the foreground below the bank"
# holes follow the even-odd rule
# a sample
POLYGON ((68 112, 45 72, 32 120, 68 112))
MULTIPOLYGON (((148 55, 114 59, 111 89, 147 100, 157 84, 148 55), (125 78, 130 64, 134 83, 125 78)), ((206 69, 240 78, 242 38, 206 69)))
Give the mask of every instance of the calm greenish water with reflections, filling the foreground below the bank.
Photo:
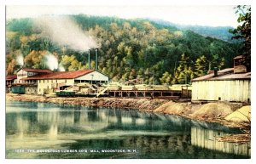
POLYGON ((6 103, 6 158, 250 158, 249 144, 217 141, 228 133, 239 131, 137 110, 6 103))

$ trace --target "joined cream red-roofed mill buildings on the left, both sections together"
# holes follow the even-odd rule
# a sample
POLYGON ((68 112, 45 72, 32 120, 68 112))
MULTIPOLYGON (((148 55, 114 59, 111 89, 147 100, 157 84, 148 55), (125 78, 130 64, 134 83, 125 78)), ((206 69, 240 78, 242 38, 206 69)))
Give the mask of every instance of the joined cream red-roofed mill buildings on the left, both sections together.
POLYGON ((91 84, 108 83, 108 80, 109 77, 107 75, 96 70, 53 72, 49 70, 20 68, 17 71, 17 75, 6 76, 6 82, 12 82, 10 86, 13 88, 25 88, 23 93, 32 94, 51 93, 61 86, 73 86, 81 82, 91 84))

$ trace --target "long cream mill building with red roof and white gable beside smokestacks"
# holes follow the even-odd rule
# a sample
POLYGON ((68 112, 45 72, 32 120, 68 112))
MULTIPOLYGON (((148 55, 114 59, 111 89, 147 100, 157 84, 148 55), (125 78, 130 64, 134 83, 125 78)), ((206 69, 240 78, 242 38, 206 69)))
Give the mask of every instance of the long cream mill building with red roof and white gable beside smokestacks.
POLYGON ((80 82, 108 83, 109 77, 96 70, 80 70, 80 71, 59 71, 49 74, 28 76, 21 79, 25 83, 37 82, 38 94, 45 93, 46 90, 54 92, 61 86, 73 86, 80 82))

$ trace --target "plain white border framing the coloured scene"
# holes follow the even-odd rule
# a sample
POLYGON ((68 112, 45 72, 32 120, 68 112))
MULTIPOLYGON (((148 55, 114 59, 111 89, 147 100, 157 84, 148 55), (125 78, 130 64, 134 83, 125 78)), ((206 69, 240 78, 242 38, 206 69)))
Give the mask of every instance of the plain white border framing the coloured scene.
MULTIPOLYGON (((4 92, 5 92, 5 24, 3 22, 5 22, 5 5, 173 5, 173 4, 180 4, 180 5, 238 5, 238 4, 247 4, 247 5, 252 5, 252 8, 254 10, 254 5, 253 5, 253 0, 72 0, 72 1, 61 1, 61 0, 39 0, 39 1, 35 1, 35 0, 2 0, 0 1, 0 22, 1 22, 1 26, 0 26, 0 38, 1 38, 1 44, 0 44, 0 50, 1 50, 1 55, 3 56, 1 58, 1 62, 2 64, 1 66, 1 91, 2 93, 1 95, 1 108, 0 110, 1 112, 1 118, 0 118, 0 127, 1 127, 1 148, 0 149, 0 162, 1 163, 43 163, 43 162, 47 162, 47 163, 58 163, 58 162, 64 162, 64 163, 79 163, 79 162, 85 162, 85 163, 102 163, 102 162, 106 162, 106 163, 131 163, 131 162, 142 162, 142 163, 148 163, 148 162, 163 162, 163 163, 171 163, 171 162, 175 162, 175 163, 255 163, 255 157, 254 157, 254 139, 252 137, 252 160, 6 160, 5 159, 5 96, 4 96, 4 92)), ((252 10, 252 14, 254 14, 254 11, 252 10)), ((252 20, 253 21, 253 20, 252 20)), ((253 26, 254 27, 254 26, 253 26)), ((253 29, 253 28, 252 28, 253 29)), ((252 30, 252 36, 254 34, 254 31, 252 30)), ((252 44, 254 45, 254 39, 252 39, 252 44)), ((254 57, 254 52, 255 52, 255 48, 252 46, 252 63, 255 61, 255 57, 254 57)), ((252 65, 252 71, 254 71, 255 69, 255 65, 252 65)), ((252 72, 252 76, 254 77, 254 73, 252 72)), ((254 81, 254 78, 252 78, 252 81, 254 81)), ((255 82, 252 82, 253 84, 255 84, 255 82)), ((254 98, 255 98, 255 93, 254 91, 254 87, 252 85, 252 113, 253 113, 253 118, 254 118, 254 109, 253 107, 254 105, 254 98)), ((252 122, 252 127, 254 127, 254 119, 252 122)), ((253 129, 253 128, 252 128, 253 129)), ((254 133, 252 131, 252 136, 254 136, 254 133)))

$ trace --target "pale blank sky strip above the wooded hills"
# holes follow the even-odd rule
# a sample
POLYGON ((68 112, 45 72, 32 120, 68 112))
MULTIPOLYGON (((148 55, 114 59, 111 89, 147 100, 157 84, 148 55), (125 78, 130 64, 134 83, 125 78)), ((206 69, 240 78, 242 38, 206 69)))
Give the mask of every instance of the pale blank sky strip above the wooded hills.
POLYGON ((90 14, 119 18, 154 18, 183 25, 211 25, 236 27, 236 6, 232 5, 127 5, 127 6, 15 6, 7 5, 6 17, 37 17, 44 14, 90 14))

